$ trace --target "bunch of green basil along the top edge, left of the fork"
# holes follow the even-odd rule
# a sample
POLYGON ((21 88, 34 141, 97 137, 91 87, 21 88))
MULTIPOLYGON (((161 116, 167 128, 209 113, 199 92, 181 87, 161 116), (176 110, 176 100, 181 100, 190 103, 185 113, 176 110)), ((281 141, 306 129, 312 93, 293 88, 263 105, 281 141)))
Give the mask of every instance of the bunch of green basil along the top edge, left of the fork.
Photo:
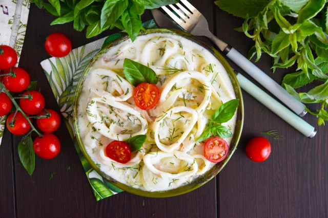
POLYGON ((46 9, 58 17, 51 25, 73 21, 77 31, 87 27, 87 38, 114 27, 126 30, 132 41, 141 29, 141 18, 145 9, 178 3, 178 0, 32 0, 40 9, 46 9))

